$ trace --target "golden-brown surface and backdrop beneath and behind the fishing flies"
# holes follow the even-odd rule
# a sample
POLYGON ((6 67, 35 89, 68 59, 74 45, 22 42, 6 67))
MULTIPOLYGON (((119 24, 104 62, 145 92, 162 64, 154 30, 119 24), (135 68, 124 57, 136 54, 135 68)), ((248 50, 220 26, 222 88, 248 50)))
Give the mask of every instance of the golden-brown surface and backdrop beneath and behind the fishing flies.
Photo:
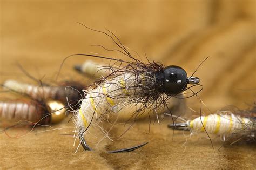
MULTIPOLYGON (((204 90, 199 96, 212 111, 228 105, 247 108, 256 94, 256 1, 0 1, 1 56, 0 80, 14 78, 31 81, 18 69, 21 64, 34 77, 55 81, 64 57, 73 53, 106 53, 92 44, 116 47, 106 36, 85 29, 81 22, 98 30, 113 31, 125 46, 165 65, 179 65, 188 74, 207 57, 195 76, 204 90)), ((125 59, 118 53, 113 57, 125 59)), ((88 58, 68 59, 59 80, 87 79, 72 66, 88 58)), ((91 59, 91 58, 90 58, 91 59)), ((103 60, 95 59, 98 62, 103 60)), ((1 99, 15 98, 0 94, 1 99)), ((17 98, 17 96, 16 96, 17 98)), ((187 106, 198 114, 196 97, 187 106)), ((204 107, 204 112, 209 113, 204 107)), ((134 125, 121 141, 102 141, 97 151, 76 154, 73 138, 60 135, 73 129, 68 118, 51 130, 41 127, 22 138, 0 133, 0 167, 5 168, 106 168, 106 169, 254 169, 255 145, 221 146, 213 138, 215 152, 206 134, 186 138, 183 132, 167 129, 169 120, 134 125), (64 128, 68 127, 68 128, 64 128), (46 132, 42 132, 46 131, 46 132), (41 132, 41 133, 39 133, 41 132), (106 154, 116 149, 150 143, 131 153, 106 154), (185 143, 186 141, 186 143, 185 143), (185 147, 184 147, 185 146, 185 147)), ((1 121, 1 127, 4 126, 1 121)), ((8 134, 26 134, 28 128, 13 128, 8 134)), ((120 133, 114 130, 112 133, 120 133)), ((188 132, 184 132, 189 135, 188 132)))

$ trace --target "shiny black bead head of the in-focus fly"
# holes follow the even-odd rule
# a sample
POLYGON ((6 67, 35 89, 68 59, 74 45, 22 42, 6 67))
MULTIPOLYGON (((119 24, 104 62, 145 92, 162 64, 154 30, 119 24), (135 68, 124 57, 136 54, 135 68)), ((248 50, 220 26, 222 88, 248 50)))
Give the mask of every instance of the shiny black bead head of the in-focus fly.
POLYGON ((187 73, 179 66, 170 65, 164 69, 163 90, 170 96, 176 96, 187 87, 187 73))

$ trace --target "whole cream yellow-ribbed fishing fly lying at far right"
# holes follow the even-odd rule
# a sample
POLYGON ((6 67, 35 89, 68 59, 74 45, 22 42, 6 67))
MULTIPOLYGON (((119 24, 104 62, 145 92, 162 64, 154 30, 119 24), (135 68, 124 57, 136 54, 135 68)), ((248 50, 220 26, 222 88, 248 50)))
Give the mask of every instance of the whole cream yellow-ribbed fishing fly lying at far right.
POLYGON ((185 123, 169 124, 168 127, 190 130, 191 135, 200 131, 206 131, 211 134, 220 135, 222 141, 234 140, 231 144, 241 139, 255 142, 255 118, 255 112, 239 111, 233 113, 227 110, 188 120, 185 123))

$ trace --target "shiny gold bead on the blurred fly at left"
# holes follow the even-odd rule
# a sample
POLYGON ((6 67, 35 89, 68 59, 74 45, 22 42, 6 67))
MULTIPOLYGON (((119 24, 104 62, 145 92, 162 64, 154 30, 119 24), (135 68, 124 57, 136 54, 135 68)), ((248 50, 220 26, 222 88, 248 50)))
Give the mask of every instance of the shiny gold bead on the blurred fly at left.
POLYGON ((60 101, 49 99, 46 101, 46 107, 47 107, 48 111, 51 113, 51 123, 52 124, 57 124, 66 117, 65 116, 65 112, 66 112, 65 106, 60 101))

